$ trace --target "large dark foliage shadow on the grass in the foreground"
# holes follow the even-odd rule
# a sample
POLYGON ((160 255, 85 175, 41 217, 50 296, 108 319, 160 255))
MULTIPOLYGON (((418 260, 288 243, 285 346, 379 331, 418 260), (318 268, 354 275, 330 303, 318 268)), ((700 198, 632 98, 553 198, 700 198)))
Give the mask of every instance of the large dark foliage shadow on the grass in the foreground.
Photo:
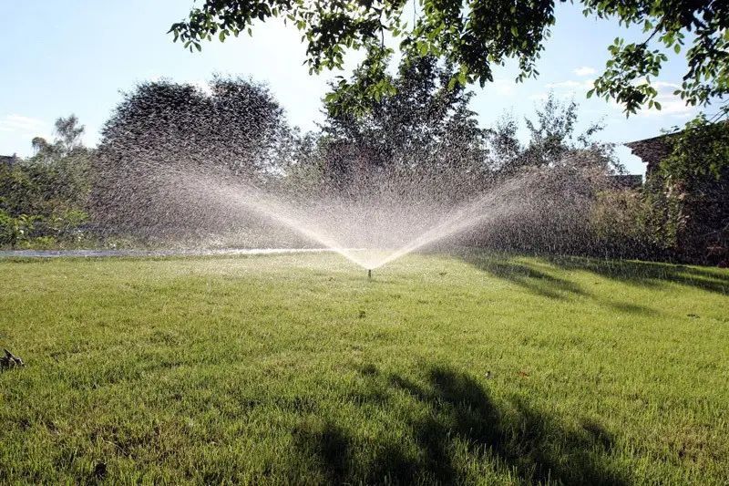
MULTIPOLYGON (((411 413, 406 415, 406 432, 397 442, 377 437, 357 440, 331 420, 319 427, 296 429, 294 443, 306 457, 316 458, 320 472, 331 483, 473 481, 464 459, 488 461, 501 472, 508 468, 527 482, 627 483, 604 466, 612 439, 595 422, 568 430, 521 400, 501 410, 476 379, 447 367, 429 369, 426 386, 404 377, 380 375, 372 366, 363 374, 377 384, 378 407, 392 407, 381 399, 383 395, 392 398, 406 393, 425 413, 413 414, 407 408, 411 413), (374 457, 355 460, 355 456, 361 457, 357 448, 363 453, 375 451, 374 457), (463 448, 467 458, 463 458, 463 448)), ((357 400, 366 401, 367 397, 357 400)))

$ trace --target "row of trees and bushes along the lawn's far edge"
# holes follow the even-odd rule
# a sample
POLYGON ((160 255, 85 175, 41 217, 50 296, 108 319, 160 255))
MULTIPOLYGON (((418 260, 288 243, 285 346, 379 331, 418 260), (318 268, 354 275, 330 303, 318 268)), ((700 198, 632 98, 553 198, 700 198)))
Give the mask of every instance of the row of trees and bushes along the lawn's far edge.
POLYGON ((333 84, 323 123, 308 133, 289 127, 268 89, 246 79, 215 78, 208 91, 143 83, 125 94, 97 149, 81 145, 83 127, 71 116, 56 121, 54 140, 33 140, 33 157, 0 168, 0 243, 139 244, 154 235, 165 242, 231 226, 261 229, 252 215, 211 213, 176 199, 169 186, 180 173, 246 181, 290 198, 395 194, 457 204, 523 171, 540 171, 539 188, 524 193, 529 210, 472 232, 468 243, 724 261, 724 123, 695 122, 642 189, 621 189, 611 184, 622 171, 611 145, 595 139, 601 125, 576 131, 576 103, 550 96, 525 120, 529 137, 522 142, 513 117, 479 127, 469 109, 473 93, 449 87, 452 75, 436 57, 406 58, 387 75, 395 91, 358 114, 340 109, 349 91, 333 84))

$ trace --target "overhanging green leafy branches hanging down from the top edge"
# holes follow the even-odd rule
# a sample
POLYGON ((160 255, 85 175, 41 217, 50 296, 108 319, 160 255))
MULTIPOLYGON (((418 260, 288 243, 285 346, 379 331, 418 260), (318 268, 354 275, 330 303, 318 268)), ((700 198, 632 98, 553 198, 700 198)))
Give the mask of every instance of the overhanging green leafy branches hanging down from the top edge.
MULTIPOLYGON (((651 78, 661 72, 665 51, 685 49, 688 69, 676 91, 687 103, 706 105, 729 94, 729 3, 723 0, 579 0, 585 16, 617 20, 621 26, 642 26, 642 42, 617 37, 605 71, 588 96, 614 98, 627 114, 644 105, 661 109, 651 78), (684 46, 692 36, 691 47, 684 46)), ((257 21, 282 16, 308 42, 310 72, 344 66, 347 49, 363 48, 361 76, 340 82, 349 103, 379 98, 393 90, 386 76, 392 47, 385 33, 399 40, 407 58, 434 56, 456 67, 449 85, 493 81, 493 67, 507 59, 519 62, 518 80, 536 78, 536 63, 555 23, 556 0, 418 0, 412 14, 406 0, 204 0, 169 33, 185 47, 201 49, 213 36, 224 41, 241 32, 252 33, 257 21), (411 21, 412 19, 412 21, 411 21)), ((726 113, 726 107, 724 107, 726 113)))

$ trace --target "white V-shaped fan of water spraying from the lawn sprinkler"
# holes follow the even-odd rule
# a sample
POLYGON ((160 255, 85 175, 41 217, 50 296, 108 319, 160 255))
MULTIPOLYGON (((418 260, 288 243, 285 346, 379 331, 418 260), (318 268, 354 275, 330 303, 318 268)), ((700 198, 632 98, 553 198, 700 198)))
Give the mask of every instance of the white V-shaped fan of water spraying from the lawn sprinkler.
MULTIPOLYGON (((138 165, 155 174, 160 169, 146 162, 139 162, 138 165)), ((251 226, 251 230, 259 228, 259 225, 262 229, 268 229, 269 224, 273 223, 274 227, 293 230, 307 241, 317 243, 316 246, 342 254, 354 264, 367 269, 370 281, 373 269, 407 253, 477 225, 513 218, 515 213, 525 207, 523 188, 528 188, 531 180, 528 176, 515 177, 463 202, 441 205, 411 200, 407 194, 400 195, 397 191, 393 195, 385 193, 375 200, 367 201, 350 200, 349 196, 334 197, 331 201, 317 200, 305 194, 297 196, 263 191, 248 182, 233 181, 217 176, 214 172, 175 168, 154 178, 141 178, 141 181, 151 184, 149 188, 145 186, 145 191, 150 191, 151 199, 163 194, 156 189, 157 185, 175 188, 175 192, 170 193, 174 197, 169 197, 169 201, 165 202, 159 200, 159 208, 155 209, 169 215, 173 210, 185 208, 184 214, 171 213, 169 222, 165 220, 167 223, 179 224, 183 232, 192 222, 208 220, 211 232, 217 231, 216 225, 221 224, 219 220, 225 221, 227 227, 232 222, 241 228, 251 226), (210 218, 211 215, 214 217, 210 218)), ((116 184, 118 181, 125 179, 117 177, 110 183, 116 184)), ((129 194, 136 193, 129 191, 129 194)), ((108 202, 109 207, 114 208, 114 212, 110 212, 112 216, 118 212, 124 214, 132 222, 132 228, 138 228, 142 235, 147 235, 149 230, 156 230, 152 220, 156 216, 155 212, 140 211, 139 204, 134 201, 119 199, 116 190, 109 193, 114 195, 112 201, 108 202), (132 203, 127 205, 129 202, 132 203)), ((113 222, 110 220, 109 224, 113 222)), ((129 222, 118 223, 124 224, 129 222)), ((165 231, 166 228, 162 226, 161 230, 165 231)), ((177 226, 172 225, 170 228, 177 226)), ((246 235, 241 229, 241 236, 246 235)), ((293 237, 293 241, 299 243, 298 236, 281 235, 277 230, 272 231, 270 237, 293 237)))

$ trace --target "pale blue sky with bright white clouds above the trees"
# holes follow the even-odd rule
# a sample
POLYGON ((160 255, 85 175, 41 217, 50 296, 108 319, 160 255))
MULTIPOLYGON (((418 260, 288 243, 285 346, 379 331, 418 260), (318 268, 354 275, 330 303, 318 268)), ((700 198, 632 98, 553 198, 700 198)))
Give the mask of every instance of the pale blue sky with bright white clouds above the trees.
MULTIPOLYGON (((200 0, 198 0, 200 2, 200 0)), ((173 43, 169 26, 182 19, 192 2, 179 0, 0 0, 0 155, 31 154, 30 140, 52 138, 53 122, 77 115, 87 132, 84 142, 98 142, 99 129, 121 100, 121 93, 150 79, 202 84, 214 74, 262 81, 286 110, 293 125, 315 129, 321 121, 321 98, 327 80, 342 73, 310 76, 303 66, 305 45, 293 26, 256 24, 253 36, 206 43, 190 53, 173 43)), ((656 80, 662 110, 646 110, 626 119, 621 107, 603 99, 586 99, 591 82, 608 58, 615 36, 640 39, 610 20, 588 19, 580 5, 558 5, 557 25, 537 69, 540 76, 517 84, 513 66, 495 68, 495 81, 473 87, 472 108, 483 127, 511 113, 521 123, 549 91, 580 103, 580 125, 601 120, 600 140, 621 144, 659 135, 683 125, 697 110, 673 97, 685 69, 682 55, 670 55, 656 80)), ((349 63, 354 65, 353 62, 349 63)), ((643 164, 619 148, 631 173, 643 164)))

